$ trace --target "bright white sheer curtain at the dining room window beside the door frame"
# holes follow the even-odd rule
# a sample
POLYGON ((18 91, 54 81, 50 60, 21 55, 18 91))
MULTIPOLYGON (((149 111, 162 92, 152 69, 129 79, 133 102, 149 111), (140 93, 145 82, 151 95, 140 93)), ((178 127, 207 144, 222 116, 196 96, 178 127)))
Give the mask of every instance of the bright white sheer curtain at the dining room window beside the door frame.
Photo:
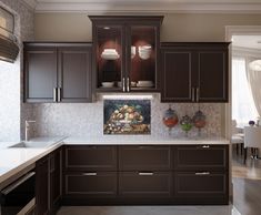
POLYGON ((245 69, 247 60, 244 58, 232 58, 232 119, 239 126, 248 124, 250 120, 255 121, 259 115, 245 69))

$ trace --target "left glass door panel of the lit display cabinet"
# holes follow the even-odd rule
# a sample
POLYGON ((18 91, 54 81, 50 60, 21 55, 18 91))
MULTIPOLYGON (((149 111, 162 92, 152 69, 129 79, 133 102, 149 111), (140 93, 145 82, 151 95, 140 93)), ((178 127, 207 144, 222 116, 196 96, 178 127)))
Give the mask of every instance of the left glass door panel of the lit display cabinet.
POLYGON ((97 86, 122 88, 122 27, 97 28, 97 86))

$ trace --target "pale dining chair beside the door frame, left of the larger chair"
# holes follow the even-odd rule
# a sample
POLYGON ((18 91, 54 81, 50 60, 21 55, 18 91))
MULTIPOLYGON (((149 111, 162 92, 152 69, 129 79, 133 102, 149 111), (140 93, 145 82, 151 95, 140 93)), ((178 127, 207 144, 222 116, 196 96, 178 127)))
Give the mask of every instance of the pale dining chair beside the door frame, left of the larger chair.
POLYGON ((231 140, 230 142, 232 144, 235 144, 235 149, 237 149, 237 155, 239 154, 239 147, 241 151, 241 155, 243 153, 243 143, 244 143, 244 134, 242 132, 240 132, 240 130, 237 127, 237 121, 232 120, 231 123, 231 140))

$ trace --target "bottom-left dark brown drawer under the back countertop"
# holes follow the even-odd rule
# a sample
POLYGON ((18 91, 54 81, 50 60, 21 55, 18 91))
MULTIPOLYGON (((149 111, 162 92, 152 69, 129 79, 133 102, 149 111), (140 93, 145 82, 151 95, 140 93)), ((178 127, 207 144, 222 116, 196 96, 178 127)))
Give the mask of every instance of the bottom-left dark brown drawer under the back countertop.
POLYGON ((64 194, 84 197, 113 197, 117 195, 117 173, 67 173, 64 175, 64 194))

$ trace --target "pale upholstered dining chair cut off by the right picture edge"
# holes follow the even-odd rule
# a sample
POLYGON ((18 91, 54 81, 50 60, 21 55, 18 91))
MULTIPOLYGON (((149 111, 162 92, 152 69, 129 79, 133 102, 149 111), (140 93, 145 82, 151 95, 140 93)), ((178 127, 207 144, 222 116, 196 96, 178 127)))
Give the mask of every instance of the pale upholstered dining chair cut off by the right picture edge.
POLYGON ((244 163, 247 161, 248 149, 251 149, 252 158, 259 158, 261 147, 261 126, 244 126, 244 163))

